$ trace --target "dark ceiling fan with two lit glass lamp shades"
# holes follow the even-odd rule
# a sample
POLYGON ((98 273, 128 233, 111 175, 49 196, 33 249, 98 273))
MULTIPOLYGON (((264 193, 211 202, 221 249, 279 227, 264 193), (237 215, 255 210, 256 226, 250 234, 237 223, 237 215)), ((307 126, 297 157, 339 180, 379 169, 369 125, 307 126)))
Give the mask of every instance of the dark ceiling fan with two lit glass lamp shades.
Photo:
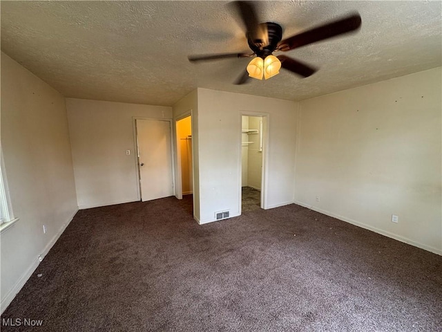
POLYGON ((282 39, 282 28, 273 22, 259 23, 256 8, 258 3, 254 1, 233 1, 231 6, 238 11, 244 26, 247 29, 246 37, 253 53, 218 53, 209 55, 190 55, 189 61, 199 62, 215 59, 227 59, 231 57, 253 57, 247 71, 238 77, 235 84, 244 84, 249 77, 262 80, 268 79, 279 73, 282 67, 301 77, 309 77, 316 72, 316 68, 286 55, 274 56, 273 52, 287 52, 324 39, 350 33, 361 27, 361 16, 356 14, 330 21, 321 26, 282 39), (256 57, 254 57, 256 55, 256 57))

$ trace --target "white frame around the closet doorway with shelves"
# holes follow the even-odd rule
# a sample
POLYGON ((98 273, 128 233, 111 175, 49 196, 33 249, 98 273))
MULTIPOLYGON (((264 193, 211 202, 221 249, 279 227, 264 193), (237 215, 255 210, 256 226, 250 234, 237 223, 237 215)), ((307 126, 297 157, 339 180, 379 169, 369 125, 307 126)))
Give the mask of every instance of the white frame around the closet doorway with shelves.
POLYGON ((239 158, 238 158, 238 176, 239 188, 239 212, 242 213, 242 116, 255 116, 262 118, 262 173, 261 173, 261 201, 260 208, 267 210, 267 178, 268 178, 268 160, 269 160, 269 124, 270 114, 256 111, 240 111, 240 125, 239 125, 239 158))

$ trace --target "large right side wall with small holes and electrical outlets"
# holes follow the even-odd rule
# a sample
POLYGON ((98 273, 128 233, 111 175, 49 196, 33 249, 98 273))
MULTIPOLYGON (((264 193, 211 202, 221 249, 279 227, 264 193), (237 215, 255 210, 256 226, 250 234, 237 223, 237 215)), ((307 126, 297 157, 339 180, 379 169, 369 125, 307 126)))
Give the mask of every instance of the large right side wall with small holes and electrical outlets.
POLYGON ((297 203, 441 254, 441 91, 434 68, 302 101, 297 203))

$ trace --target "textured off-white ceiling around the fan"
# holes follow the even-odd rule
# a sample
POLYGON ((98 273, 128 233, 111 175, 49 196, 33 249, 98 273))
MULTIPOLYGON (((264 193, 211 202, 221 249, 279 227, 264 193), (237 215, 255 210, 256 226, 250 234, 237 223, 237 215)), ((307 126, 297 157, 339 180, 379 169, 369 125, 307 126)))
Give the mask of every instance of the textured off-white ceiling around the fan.
POLYGON ((262 1, 283 37, 357 11, 361 30, 285 55, 319 71, 232 84, 250 59, 226 1, 1 1, 1 49, 66 97, 171 106, 197 87, 302 100, 441 66, 441 1, 262 1))

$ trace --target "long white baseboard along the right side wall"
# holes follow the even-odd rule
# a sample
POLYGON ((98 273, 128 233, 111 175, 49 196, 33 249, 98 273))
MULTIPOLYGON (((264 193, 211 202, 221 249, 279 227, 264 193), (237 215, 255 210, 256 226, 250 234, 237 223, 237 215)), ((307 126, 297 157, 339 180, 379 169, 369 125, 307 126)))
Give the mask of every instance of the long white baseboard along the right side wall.
POLYGON ((434 247, 431 247, 431 246, 426 246, 423 243, 419 243, 419 242, 407 239, 406 237, 401 237, 400 235, 397 235, 397 234, 394 234, 394 233, 390 233, 390 232, 387 232, 385 230, 381 230, 380 228, 376 228, 376 227, 367 225, 366 223, 360 223, 359 221, 356 221, 356 220, 353 220, 353 219, 349 219, 349 218, 347 218, 345 216, 340 216, 339 214, 334 214, 333 212, 329 212, 327 210, 322 210, 320 208, 316 208, 313 205, 308 205, 308 204, 305 204, 305 203, 302 203, 302 202, 299 202, 299 201, 295 201, 294 203, 298 204, 298 205, 301 205, 304 208, 308 208, 310 210, 314 210, 316 212, 325 214, 327 216, 332 216, 333 218, 345 221, 346 223, 351 223, 352 225, 356 225, 358 227, 365 228, 365 230, 371 230, 372 232, 384 235, 385 237, 390 237, 391 239, 395 239, 397 241, 401 241, 403 243, 410 244, 410 245, 415 246, 417 248, 421 248, 423 250, 434 252, 434 254, 442 255, 442 250, 440 250, 438 248, 434 248, 434 247))

